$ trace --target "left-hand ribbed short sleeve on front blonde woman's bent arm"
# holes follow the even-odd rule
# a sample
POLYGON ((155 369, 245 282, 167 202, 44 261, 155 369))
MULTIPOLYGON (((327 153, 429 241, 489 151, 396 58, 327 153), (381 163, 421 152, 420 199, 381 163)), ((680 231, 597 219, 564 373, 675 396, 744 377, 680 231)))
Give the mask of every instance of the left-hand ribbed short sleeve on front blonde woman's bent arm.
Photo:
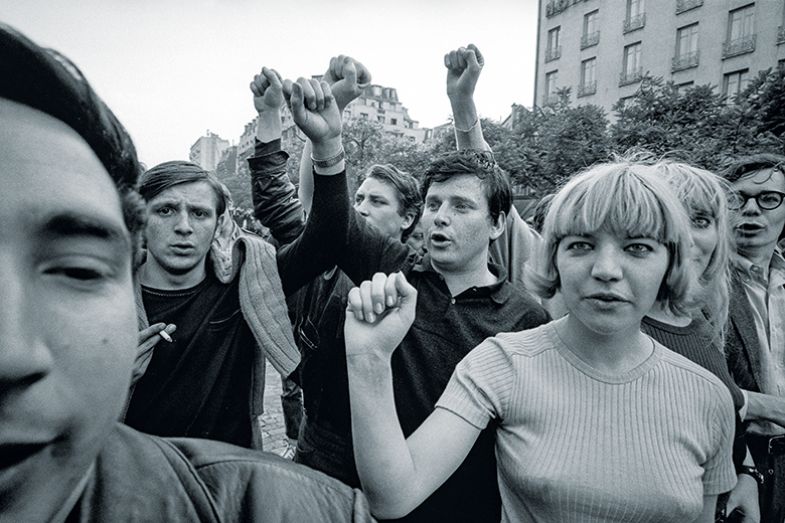
POLYGON ((504 419, 514 377, 504 340, 488 338, 458 363, 436 407, 482 430, 491 420, 504 419))

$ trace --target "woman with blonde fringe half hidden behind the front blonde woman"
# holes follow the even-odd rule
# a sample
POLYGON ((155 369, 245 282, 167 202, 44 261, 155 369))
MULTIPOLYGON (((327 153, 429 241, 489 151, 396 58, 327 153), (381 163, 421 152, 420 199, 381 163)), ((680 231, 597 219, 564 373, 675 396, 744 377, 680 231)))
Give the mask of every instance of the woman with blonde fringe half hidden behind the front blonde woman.
POLYGON ((741 417, 746 401, 733 381, 723 352, 725 325, 728 318, 729 255, 732 238, 728 228, 729 187, 709 171, 686 163, 661 160, 652 169, 663 176, 674 189, 690 219, 693 287, 690 307, 685 313, 674 313, 662 302, 654 304, 643 318, 643 332, 664 346, 711 371, 728 387, 736 410, 734 465, 736 487, 729 499, 721 496, 717 503, 720 514, 738 511, 739 521, 760 521, 758 483, 762 476, 748 456, 741 417))

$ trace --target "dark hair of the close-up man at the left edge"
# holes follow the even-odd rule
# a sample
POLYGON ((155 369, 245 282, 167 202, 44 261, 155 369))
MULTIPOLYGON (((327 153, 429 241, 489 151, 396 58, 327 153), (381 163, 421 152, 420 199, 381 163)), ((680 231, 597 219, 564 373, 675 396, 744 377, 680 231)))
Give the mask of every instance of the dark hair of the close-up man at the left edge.
POLYGON ((0 23, 0 98, 57 118, 87 142, 117 188, 133 252, 138 253, 144 203, 135 189, 141 173, 136 149, 128 132, 81 71, 58 52, 0 23))

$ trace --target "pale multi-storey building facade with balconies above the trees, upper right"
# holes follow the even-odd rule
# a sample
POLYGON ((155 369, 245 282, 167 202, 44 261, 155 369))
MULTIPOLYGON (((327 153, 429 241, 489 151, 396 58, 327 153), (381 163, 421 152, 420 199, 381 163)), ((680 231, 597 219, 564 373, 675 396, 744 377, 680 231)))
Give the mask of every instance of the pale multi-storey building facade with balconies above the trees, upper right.
POLYGON ((785 0, 539 0, 534 105, 569 87, 611 113, 641 79, 729 98, 785 64, 785 0))

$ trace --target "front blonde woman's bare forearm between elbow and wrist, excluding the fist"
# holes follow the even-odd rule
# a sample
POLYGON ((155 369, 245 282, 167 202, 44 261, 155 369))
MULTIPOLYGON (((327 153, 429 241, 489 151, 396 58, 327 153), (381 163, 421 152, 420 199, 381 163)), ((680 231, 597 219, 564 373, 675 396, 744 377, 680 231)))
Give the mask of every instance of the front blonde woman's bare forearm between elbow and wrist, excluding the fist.
POLYGON ((392 369, 374 354, 347 355, 352 440, 357 472, 375 516, 401 517, 416 502, 412 456, 398 421, 392 369))

